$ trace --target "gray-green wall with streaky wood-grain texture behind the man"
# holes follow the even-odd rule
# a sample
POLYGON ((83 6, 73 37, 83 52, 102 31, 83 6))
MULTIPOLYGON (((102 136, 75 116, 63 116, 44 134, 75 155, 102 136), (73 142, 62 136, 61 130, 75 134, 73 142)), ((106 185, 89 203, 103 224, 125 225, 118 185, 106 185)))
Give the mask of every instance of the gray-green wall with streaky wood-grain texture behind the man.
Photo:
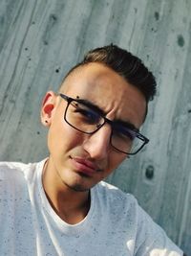
POLYGON ((159 82, 147 149, 109 178, 191 255, 191 1, 1 0, 0 159, 47 155, 40 101, 89 49, 117 43, 159 82))

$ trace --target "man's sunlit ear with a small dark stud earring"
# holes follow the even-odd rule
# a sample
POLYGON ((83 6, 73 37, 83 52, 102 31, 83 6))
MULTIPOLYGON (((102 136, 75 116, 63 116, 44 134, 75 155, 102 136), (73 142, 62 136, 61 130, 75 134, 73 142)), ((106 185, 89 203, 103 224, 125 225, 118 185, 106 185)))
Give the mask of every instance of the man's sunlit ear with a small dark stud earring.
POLYGON ((53 91, 48 91, 42 101, 41 106, 41 123, 45 127, 50 127, 52 123, 52 117, 53 117, 53 110, 56 106, 56 99, 57 96, 54 94, 53 91))

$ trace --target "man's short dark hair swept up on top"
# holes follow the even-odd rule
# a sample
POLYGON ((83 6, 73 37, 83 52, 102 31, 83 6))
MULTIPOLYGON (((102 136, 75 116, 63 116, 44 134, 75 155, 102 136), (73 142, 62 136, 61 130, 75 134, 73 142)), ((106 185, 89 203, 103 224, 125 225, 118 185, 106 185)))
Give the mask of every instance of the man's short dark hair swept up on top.
POLYGON ((138 57, 119 48, 117 45, 111 44, 89 51, 83 60, 68 72, 66 77, 75 68, 92 62, 102 63, 110 67, 126 81, 136 86, 144 95, 147 103, 153 100, 156 94, 157 82, 152 72, 148 70, 138 57))

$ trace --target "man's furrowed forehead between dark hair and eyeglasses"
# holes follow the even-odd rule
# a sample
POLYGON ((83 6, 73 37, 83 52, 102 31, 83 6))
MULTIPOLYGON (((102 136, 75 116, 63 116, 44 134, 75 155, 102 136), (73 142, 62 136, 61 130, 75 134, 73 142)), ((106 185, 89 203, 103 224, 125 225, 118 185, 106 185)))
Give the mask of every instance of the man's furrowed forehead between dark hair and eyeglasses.
POLYGON ((142 93, 115 71, 100 63, 89 63, 72 72, 62 92, 99 106, 111 120, 119 119, 140 127, 146 102, 142 93))

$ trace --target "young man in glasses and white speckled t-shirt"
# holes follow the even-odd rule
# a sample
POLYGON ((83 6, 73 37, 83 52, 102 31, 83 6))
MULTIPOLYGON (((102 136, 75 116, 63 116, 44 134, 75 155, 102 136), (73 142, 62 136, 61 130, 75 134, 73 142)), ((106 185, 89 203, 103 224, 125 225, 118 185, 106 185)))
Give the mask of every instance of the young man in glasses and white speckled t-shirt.
POLYGON ((155 92, 142 62, 110 45, 46 94, 49 157, 0 166, 1 255, 182 255, 133 196, 102 181, 148 143, 138 129, 155 92))

